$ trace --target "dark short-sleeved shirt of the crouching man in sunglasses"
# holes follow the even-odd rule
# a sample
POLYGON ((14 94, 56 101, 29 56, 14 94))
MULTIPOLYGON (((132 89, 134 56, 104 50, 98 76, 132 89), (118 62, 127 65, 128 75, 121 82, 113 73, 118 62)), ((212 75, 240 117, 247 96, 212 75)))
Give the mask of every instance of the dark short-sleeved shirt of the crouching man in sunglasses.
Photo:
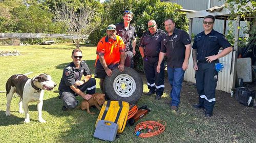
POLYGON ((59 83, 59 91, 70 90, 70 85, 74 85, 77 80, 81 80, 82 75, 90 75, 90 69, 85 61, 80 63, 80 68, 76 69, 75 64, 71 62, 62 73, 59 83))

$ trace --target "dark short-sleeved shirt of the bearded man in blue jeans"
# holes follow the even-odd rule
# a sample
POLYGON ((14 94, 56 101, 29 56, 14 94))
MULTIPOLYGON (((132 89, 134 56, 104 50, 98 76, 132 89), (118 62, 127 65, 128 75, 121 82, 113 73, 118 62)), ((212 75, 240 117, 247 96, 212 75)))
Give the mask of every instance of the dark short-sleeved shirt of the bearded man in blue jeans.
POLYGON ((165 34, 162 39, 161 52, 166 52, 167 66, 182 68, 185 59, 185 45, 191 43, 189 35, 178 28, 174 29, 173 35, 165 34))

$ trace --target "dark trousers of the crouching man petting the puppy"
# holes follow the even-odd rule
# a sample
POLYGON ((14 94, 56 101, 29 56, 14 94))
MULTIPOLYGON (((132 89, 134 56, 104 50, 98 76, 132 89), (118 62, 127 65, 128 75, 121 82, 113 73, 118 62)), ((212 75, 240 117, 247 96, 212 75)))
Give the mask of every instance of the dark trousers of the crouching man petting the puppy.
MULTIPOLYGON (((96 80, 95 78, 91 78, 86 83, 77 87, 82 92, 86 91, 86 94, 94 94, 96 90, 96 80)), ((78 100, 75 98, 77 94, 73 92, 71 89, 66 91, 60 91, 60 99, 63 101, 63 104, 68 109, 74 109, 78 105, 78 100)))

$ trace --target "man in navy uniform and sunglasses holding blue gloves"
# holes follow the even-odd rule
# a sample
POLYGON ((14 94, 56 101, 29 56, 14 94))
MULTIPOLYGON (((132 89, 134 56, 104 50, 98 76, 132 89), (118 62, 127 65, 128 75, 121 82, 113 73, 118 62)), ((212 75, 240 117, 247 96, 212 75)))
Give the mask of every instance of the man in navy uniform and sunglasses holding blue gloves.
POLYGON ((196 35, 192 46, 194 70, 196 70, 197 92, 199 103, 193 105, 195 108, 205 108, 205 117, 211 117, 215 99, 215 89, 218 81, 218 72, 215 65, 219 58, 227 55, 233 50, 225 37, 214 30, 215 17, 208 15, 204 17, 204 31, 196 35), (220 47, 223 50, 219 52, 220 47))

